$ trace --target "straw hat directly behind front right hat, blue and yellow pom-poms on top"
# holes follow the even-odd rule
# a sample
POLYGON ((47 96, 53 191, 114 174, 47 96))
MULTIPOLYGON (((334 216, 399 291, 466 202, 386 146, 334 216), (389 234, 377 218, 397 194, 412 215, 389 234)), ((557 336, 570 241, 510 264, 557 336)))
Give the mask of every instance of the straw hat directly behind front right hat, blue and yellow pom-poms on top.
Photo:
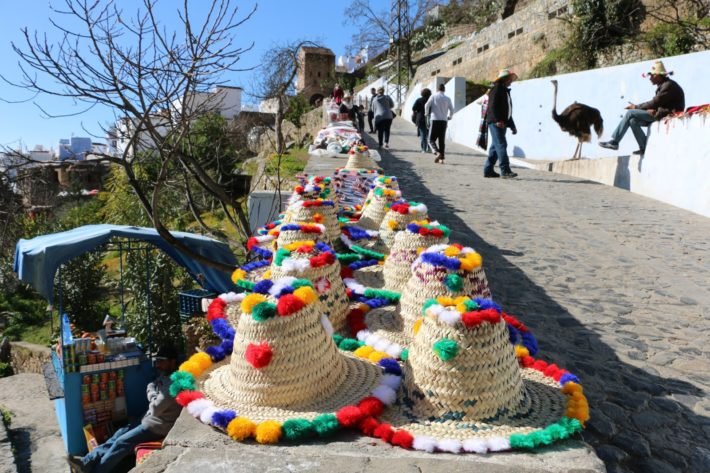
POLYGON ((412 264, 399 305, 367 313, 367 329, 390 343, 408 346, 422 304, 438 295, 490 297, 481 255, 457 243, 428 248, 412 264))

